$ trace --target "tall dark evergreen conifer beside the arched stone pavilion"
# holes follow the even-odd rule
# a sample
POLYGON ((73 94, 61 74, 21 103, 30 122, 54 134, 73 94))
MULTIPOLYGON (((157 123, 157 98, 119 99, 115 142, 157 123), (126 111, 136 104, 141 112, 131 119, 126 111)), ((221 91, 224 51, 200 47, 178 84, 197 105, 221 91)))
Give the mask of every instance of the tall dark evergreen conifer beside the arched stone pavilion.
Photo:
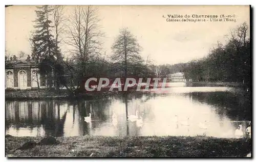
POLYGON ((33 42, 33 57, 37 64, 39 64, 39 70, 42 75, 47 75, 47 81, 49 88, 52 88, 53 70, 56 61, 56 43, 54 37, 51 34, 52 21, 50 20, 52 7, 45 5, 37 7, 36 20, 32 42, 33 42))

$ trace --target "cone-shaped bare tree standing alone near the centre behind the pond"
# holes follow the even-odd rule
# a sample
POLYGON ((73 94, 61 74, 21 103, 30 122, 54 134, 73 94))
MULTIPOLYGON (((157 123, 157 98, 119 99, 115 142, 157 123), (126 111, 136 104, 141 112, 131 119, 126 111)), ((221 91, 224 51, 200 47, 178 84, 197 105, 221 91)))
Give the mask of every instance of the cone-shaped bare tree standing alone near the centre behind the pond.
POLYGON ((129 65, 140 65, 143 62, 140 52, 142 47, 139 45, 136 37, 127 29, 119 31, 119 35, 112 45, 112 60, 115 64, 122 65, 124 77, 127 77, 129 65))

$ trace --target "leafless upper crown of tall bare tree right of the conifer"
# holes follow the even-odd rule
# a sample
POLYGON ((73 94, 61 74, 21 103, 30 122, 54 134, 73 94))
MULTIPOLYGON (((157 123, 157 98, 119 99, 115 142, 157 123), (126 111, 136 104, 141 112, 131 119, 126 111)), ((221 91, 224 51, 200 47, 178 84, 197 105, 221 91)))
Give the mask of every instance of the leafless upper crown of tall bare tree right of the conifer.
POLYGON ((97 12, 91 6, 77 6, 69 19, 68 44, 73 47, 70 52, 79 60, 89 61, 92 56, 101 54, 100 37, 103 34, 99 31, 97 12))

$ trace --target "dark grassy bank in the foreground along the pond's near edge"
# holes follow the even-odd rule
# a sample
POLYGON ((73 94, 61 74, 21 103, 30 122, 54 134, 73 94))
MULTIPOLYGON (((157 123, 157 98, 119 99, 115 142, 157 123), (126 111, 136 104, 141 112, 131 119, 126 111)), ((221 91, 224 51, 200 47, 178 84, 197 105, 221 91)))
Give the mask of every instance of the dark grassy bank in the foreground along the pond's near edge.
POLYGON ((250 139, 210 137, 59 137, 57 145, 17 149, 42 137, 6 138, 6 155, 92 157, 244 157, 251 152, 250 139))

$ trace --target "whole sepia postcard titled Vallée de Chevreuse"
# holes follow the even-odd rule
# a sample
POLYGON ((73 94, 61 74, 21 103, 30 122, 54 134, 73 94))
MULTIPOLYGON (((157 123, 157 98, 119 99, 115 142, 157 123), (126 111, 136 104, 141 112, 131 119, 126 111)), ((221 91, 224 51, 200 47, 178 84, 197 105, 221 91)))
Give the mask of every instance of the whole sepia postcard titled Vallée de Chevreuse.
POLYGON ((252 157, 250 6, 6 6, 6 157, 252 157))

